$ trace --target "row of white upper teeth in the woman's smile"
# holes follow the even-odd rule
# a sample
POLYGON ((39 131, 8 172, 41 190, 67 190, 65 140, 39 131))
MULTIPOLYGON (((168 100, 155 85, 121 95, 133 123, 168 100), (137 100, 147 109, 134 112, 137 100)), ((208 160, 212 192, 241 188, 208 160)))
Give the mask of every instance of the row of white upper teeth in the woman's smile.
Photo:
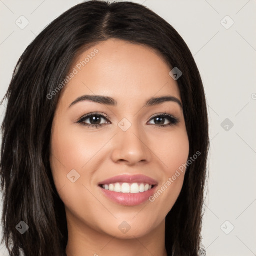
POLYGON ((104 184, 103 188, 114 192, 139 193, 151 189, 152 185, 149 185, 147 183, 114 183, 109 185, 104 184))

